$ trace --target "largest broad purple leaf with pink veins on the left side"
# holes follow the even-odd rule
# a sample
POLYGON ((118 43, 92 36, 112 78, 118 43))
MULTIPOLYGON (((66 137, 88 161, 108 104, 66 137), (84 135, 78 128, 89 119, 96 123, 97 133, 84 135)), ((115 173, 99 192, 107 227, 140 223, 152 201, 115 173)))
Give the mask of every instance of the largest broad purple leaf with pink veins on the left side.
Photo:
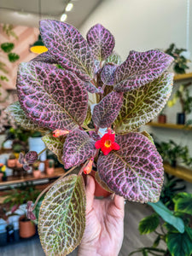
POLYGON ((74 130, 84 123, 88 95, 73 73, 43 62, 20 64, 20 106, 29 119, 51 130, 74 130))

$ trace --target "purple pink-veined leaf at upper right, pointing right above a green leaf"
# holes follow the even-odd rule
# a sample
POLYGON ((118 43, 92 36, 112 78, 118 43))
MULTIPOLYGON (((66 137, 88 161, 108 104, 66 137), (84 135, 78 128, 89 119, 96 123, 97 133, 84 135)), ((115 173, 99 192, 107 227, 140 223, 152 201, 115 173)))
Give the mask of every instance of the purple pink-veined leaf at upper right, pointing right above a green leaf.
POLYGON ((137 52, 131 50, 127 59, 115 71, 117 91, 134 90, 160 77, 173 58, 160 50, 137 52))

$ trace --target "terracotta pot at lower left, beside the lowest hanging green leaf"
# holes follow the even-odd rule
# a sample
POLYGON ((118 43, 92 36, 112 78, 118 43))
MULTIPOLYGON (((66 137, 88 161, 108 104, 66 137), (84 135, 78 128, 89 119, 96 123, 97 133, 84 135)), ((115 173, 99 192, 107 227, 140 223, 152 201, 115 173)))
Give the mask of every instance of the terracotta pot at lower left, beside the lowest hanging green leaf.
POLYGON ((35 224, 30 219, 24 219, 25 216, 20 216, 19 218, 20 237, 28 238, 34 236, 36 233, 35 224))

